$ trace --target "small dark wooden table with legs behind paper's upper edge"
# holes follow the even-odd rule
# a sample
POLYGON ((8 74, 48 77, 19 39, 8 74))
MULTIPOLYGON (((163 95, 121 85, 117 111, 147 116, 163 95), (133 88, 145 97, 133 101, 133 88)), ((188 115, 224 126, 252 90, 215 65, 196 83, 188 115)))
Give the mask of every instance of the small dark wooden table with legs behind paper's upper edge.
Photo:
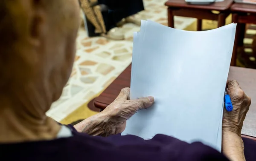
POLYGON ((218 27, 224 26, 227 16, 230 14, 230 6, 233 0, 224 0, 210 5, 190 5, 184 0, 168 0, 168 26, 174 28, 174 16, 197 18, 197 30, 202 30, 202 19, 217 20, 218 27), (213 13, 212 11, 219 11, 213 13))

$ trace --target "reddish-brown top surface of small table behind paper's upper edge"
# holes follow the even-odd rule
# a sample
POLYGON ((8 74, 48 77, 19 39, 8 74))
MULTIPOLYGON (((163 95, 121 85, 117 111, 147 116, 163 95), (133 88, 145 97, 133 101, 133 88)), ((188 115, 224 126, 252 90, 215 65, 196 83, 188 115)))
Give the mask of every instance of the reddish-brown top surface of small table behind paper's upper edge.
POLYGON ((209 5, 191 5, 185 2, 185 0, 168 0, 165 6, 174 8, 189 8, 189 9, 206 9, 206 10, 216 10, 225 11, 230 8, 233 4, 233 0, 224 0, 222 2, 216 2, 209 5))

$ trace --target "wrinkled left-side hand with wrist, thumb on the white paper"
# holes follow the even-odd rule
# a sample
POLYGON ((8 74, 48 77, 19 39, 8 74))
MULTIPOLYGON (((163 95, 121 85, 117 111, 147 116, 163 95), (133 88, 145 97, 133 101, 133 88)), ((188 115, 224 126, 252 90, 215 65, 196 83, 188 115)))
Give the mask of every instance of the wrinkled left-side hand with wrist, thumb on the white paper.
POLYGON ((130 100, 130 88, 124 88, 106 109, 74 127, 78 132, 85 132, 89 135, 118 134, 125 130, 126 120, 131 118, 139 109, 148 108, 153 103, 154 98, 151 96, 130 100))

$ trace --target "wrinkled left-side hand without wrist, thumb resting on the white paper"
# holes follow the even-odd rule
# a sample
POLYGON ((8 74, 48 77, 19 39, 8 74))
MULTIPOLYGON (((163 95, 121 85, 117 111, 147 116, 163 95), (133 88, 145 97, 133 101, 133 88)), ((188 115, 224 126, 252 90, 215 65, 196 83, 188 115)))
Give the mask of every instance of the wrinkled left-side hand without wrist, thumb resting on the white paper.
POLYGON ((126 120, 131 118, 139 109, 150 107, 154 103, 154 98, 149 96, 130 100, 130 88, 121 90, 115 101, 111 103, 104 111, 109 116, 109 120, 115 126, 115 134, 125 130, 126 120))

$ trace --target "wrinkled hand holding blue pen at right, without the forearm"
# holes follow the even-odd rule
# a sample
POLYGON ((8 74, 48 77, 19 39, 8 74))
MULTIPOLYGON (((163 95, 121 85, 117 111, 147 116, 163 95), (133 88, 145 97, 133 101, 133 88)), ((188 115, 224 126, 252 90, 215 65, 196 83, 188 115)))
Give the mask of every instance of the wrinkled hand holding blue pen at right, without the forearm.
POLYGON ((236 80, 228 80, 227 89, 227 94, 230 95, 233 104, 233 110, 228 112, 224 108, 222 129, 223 132, 231 131, 240 136, 251 99, 240 88, 239 83, 236 80))

